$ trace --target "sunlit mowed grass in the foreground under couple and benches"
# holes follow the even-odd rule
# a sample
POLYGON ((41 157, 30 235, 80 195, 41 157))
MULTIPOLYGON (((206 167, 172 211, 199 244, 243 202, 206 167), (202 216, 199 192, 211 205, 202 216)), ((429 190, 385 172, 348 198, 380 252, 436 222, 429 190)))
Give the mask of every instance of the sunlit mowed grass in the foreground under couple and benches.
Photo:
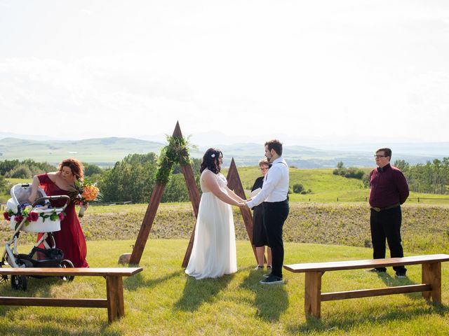
MULTIPOLYGON (((117 267, 133 241, 89 241, 91 267, 117 267)), ((27 246, 29 247, 29 246, 27 246)), ((196 281, 180 267, 186 239, 150 239, 140 266, 125 278, 126 316, 108 325, 106 309, 0 306, 1 335, 448 335, 449 262, 442 264, 443 305, 420 293, 323 302, 321 320, 304 316, 304 274, 285 272, 286 285, 262 286, 248 241, 237 241, 239 271, 196 281)), ((24 248, 25 249, 25 248, 24 248)), ((370 248, 286 244, 286 264, 371 257, 370 248)), ((420 265, 407 279, 391 269, 326 272, 323 292, 382 288, 421 282, 420 265)), ((0 284, 1 296, 105 297, 105 280, 30 279, 27 292, 0 284)))

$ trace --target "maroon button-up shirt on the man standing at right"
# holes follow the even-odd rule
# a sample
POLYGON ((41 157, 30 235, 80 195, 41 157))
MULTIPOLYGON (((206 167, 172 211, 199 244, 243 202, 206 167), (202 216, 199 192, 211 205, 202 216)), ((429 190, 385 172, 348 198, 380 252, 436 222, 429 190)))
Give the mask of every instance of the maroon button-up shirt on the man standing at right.
POLYGON ((408 197, 406 176, 389 164, 370 172, 370 187, 371 207, 385 208, 403 204, 408 197))

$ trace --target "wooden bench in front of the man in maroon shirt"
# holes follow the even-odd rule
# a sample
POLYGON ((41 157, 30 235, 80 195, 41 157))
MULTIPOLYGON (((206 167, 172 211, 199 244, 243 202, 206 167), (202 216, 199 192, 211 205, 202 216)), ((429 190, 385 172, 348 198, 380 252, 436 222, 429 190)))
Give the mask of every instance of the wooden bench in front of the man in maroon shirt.
POLYGON ((422 292, 426 300, 441 303, 441 262, 449 261, 447 254, 416 255, 405 258, 385 258, 370 260, 351 260, 340 262, 314 262, 309 264, 284 265, 290 272, 305 273, 304 311, 321 317, 321 302, 330 300, 352 299, 378 295, 422 292), (321 293, 321 276, 327 271, 343 269, 363 269, 422 264, 422 284, 395 286, 387 288, 349 290, 335 293, 321 293))

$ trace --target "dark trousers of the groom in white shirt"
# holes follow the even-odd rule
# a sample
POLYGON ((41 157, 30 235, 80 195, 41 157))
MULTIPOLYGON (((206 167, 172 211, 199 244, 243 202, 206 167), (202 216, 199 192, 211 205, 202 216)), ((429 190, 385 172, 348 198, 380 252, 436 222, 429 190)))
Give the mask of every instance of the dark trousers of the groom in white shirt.
POLYGON ((288 200, 264 202, 264 225, 267 230, 268 246, 272 248, 272 274, 282 277, 283 265, 283 223, 288 216, 288 200))

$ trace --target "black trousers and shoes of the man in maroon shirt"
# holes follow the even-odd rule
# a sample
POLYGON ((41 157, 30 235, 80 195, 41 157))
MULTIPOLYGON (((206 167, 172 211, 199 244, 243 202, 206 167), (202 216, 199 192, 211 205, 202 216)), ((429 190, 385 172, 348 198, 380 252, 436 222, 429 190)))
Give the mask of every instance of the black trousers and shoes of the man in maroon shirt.
MULTIPOLYGON (((371 209, 371 241, 373 242, 373 258, 385 258, 385 239, 387 239, 391 258, 402 258, 404 256, 401 244, 401 207, 387 209, 380 212, 371 209)), ((387 270, 385 267, 379 270, 387 270)), ((397 273, 406 273, 403 266, 396 266, 393 269, 397 273)))

